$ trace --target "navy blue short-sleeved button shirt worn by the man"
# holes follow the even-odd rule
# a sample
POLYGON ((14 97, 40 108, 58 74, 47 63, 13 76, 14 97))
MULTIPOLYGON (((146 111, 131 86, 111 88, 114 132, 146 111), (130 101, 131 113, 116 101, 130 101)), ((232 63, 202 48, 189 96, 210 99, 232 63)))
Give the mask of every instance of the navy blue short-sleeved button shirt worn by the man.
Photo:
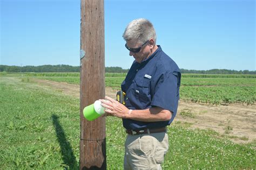
POLYGON ((177 113, 181 73, 177 64, 158 49, 142 63, 133 62, 122 91, 126 93, 125 106, 132 110, 161 107, 173 112, 169 121, 144 122, 123 119, 127 130, 158 128, 170 125, 177 113))

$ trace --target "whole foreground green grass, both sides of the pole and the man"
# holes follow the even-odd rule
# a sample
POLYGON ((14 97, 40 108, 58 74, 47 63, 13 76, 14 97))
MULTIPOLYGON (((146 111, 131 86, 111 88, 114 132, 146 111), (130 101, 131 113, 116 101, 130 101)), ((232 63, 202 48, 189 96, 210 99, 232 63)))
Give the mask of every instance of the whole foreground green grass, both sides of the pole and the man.
MULTIPOLYGON (((0 91, 1 169, 77 169, 79 99, 15 75, 1 77, 0 91)), ((255 140, 234 144, 215 131, 191 130, 178 123, 168 133, 163 169, 256 168, 255 140)), ((124 139, 122 121, 107 117, 108 169, 123 169, 124 139)))

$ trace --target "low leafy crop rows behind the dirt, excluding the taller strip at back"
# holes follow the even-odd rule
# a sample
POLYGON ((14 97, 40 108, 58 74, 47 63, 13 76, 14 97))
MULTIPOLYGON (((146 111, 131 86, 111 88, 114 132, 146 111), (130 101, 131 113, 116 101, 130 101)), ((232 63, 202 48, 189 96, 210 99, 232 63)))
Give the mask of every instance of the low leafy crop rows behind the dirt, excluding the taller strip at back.
MULTIPOLYGON (((79 84, 79 77, 40 77, 58 82, 79 84)), ((120 89, 122 77, 105 77, 105 86, 120 89)), ((256 79, 245 78, 183 78, 180 98, 194 103, 230 104, 256 102, 256 79)))

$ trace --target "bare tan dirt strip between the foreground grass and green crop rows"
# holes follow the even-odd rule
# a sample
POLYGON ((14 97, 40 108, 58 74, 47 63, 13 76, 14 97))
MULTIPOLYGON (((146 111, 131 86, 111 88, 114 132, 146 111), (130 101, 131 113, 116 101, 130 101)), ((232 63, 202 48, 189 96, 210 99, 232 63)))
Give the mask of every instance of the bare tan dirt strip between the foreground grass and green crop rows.
MULTIPOLYGON (((33 79, 36 83, 49 86, 64 94, 79 97, 79 85, 58 83, 50 80, 33 79)), ((106 87, 106 96, 116 98, 116 90, 106 87)), ((185 101, 179 102, 177 116, 173 123, 188 124, 191 128, 212 129, 221 137, 238 143, 256 139, 256 105, 230 104, 207 105, 185 101)))

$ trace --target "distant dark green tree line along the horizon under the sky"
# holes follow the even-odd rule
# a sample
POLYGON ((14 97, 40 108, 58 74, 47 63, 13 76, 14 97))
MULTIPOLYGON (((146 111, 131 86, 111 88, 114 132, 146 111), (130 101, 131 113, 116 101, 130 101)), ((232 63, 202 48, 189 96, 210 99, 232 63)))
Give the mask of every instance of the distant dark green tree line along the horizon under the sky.
MULTIPOLYGON (((212 70, 186 70, 180 69, 181 73, 194 74, 256 74, 256 71, 249 70, 227 70, 227 69, 212 69, 212 70)), ((127 73, 129 69, 122 67, 105 67, 105 72, 109 73, 127 73)), ((80 66, 71 65, 39 65, 39 66, 9 66, 0 65, 0 72, 80 72, 80 66)))

